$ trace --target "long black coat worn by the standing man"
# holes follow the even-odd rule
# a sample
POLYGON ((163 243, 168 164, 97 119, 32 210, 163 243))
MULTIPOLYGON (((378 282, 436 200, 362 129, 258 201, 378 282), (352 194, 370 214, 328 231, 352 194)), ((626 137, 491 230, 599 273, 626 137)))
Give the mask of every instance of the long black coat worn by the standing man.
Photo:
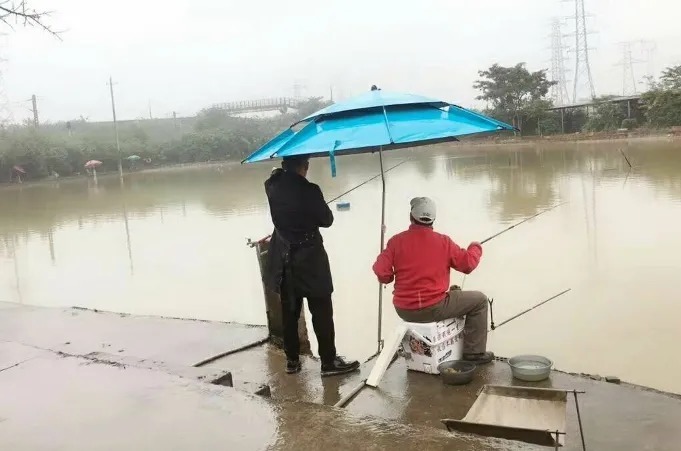
POLYGON ((274 232, 265 270, 265 285, 281 294, 286 277, 295 296, 333 293, 329 258, 320 227, 333 224, 333 213, 319 186, 293 172, 275 170, 265 182, 274 232))

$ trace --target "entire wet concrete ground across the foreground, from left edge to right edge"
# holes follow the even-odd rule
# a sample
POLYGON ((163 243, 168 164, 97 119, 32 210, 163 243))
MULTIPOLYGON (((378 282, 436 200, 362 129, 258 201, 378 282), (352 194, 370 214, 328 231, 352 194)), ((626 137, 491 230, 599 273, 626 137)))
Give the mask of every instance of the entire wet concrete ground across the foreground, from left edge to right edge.
MULTIPOLYGON (((516 383, 504 363, 483 367, 469 386, 449 387, 437 376, 407 372, 398 359, 378 389, 366 388, 345 409, 331 405, 368 375, 371 363, 362 372, 322 379, 319 363, 309 358, 304 371, 291 376, 283 372, 282 352, 264 345, 193 366, 264 333, 0 304, 2 448, 546 449, 448 433, 440 422, 463 417, 484 383, 516 383), (228 373, 233 388, 207 383, 228 373), (271 398, 253 394, 263 383, 271 398)), ((678 397, 558 372, 540 385, 587 392, 580 406, 588 449, 679 449, 678 397)), ((577 450, 574 403, 569 406, 565 449, 577 450)))

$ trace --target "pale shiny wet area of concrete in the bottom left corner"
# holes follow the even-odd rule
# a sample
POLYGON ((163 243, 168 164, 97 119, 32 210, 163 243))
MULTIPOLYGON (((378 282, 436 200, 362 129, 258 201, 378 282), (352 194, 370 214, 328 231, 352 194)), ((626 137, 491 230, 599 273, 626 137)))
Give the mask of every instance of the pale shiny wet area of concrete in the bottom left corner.
POLYGON ((264 399, 79 357, 39 356, 0 372, 0 399, 7 450, 262 450, 277 438, 264 399))

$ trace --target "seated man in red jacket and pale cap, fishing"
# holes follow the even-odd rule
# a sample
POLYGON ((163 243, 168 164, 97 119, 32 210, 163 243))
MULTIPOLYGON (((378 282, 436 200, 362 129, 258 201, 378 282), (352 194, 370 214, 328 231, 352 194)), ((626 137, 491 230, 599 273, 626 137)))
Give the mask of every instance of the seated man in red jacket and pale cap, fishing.
POLYGON ((395 281, 393 304, 406 322, 432 323, 466 315, 463 359, 489 363, 487 296, 479 291, 449 288, 450 268, 470 274, 480 262, 482 246, 461 249, 447 235, 433 230, 435 202, 427 197, 411 201, 411 226, 395 235, 374 263, 381 283, 395 281))

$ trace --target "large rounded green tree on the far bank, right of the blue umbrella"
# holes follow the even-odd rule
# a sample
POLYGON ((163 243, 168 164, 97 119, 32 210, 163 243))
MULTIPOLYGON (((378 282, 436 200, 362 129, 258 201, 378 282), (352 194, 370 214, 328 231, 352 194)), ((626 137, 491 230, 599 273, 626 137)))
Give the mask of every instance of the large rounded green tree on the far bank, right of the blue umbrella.
POLYGON ((488 103, 488 114, 513 122, 521 131, 531 133, 539 128, 551 106, 546 95, 555 84, 548 80, 546 70, 530 72, 525 63, 512 67, 494 64, 478 74, 481 78, 473 87, 481 92, 477 99, 488 103))

